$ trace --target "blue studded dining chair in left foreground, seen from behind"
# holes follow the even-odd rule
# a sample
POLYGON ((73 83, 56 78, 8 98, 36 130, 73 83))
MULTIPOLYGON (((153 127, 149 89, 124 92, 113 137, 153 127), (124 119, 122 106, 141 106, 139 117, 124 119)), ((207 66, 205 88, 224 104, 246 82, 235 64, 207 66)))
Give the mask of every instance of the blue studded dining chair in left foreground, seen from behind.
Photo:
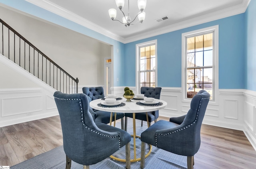
POLYGON ((130 168, 130 134, 104 123, 95 123, 84 93, 64 94, 57 91, 54 100, 60 114, 66 169, 70 169, 71 160, 89 169, 89 165, 106 159, 124 145, 126 168, 130 168))

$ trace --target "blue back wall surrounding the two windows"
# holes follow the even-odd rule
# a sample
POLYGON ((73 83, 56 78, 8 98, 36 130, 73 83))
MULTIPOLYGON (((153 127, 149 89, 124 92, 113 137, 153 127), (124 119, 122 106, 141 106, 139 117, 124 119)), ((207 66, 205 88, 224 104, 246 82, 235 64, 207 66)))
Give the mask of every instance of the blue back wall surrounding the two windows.
POLYGON ((124 84, 136 85, 136 44, 157 39, 158 86, 181 87, 182 33, 215 25, 219 25, 219 88, 245 88, 245 14, 125 44, 124 61, 132 66, 130 71, 125 71, 124 84))

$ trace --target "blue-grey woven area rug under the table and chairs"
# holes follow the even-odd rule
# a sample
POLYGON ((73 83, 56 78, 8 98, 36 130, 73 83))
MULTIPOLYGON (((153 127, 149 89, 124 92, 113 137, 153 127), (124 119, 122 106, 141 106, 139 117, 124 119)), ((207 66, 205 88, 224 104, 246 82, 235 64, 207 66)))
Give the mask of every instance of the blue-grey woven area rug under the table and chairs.
MULTIPOLYGON (((144 131, 145 127, 138 128, 137 132, 144 131)), ((136 128, 137 129, 137 128, 136 128)), ((140 135, 140 134, 139 134, 140 135)), ((170 143, 171 144, 171 143, 170 143)), ((133 139, 131 145, 131 159, 134 158, 133 139)), ((141 141, 136 138, 136 157, 140 157, 141 141)), ((146 151, 149 150, 149 145, 146 145, 146 151)), ((125 146, 113 154, 115 157, 125 159, 125 146)), ((72 161, 71 169, 83 169, 83 166, 72 161)), ((168 151, 152 146, 152 152, 145 159, 144 169, 186 169, 187 158, 182 155, 176 155, 168 151)), ((18 163, 10 169, 64 169, 66 167, 66 154, 63 146, 56 147, 46 153, 42 153, 18 163)), ((90 165, 90 169, 125 169, 126 164, 108 157, 103 161, 90 165)), ((131 169, 140 169, 140 161, 132 162, 131 169)))

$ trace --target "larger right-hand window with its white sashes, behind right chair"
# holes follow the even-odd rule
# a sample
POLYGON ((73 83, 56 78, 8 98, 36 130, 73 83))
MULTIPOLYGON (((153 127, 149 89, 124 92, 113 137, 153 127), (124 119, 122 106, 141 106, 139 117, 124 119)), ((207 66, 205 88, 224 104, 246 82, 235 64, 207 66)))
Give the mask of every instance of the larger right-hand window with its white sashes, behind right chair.
POLYGON ((192 98, 199 90, 210 93, 210 100, 214 100, 217 84, 216 57, 218 53, 218 40, 216 28, 184 33, 184 98, 192 98))

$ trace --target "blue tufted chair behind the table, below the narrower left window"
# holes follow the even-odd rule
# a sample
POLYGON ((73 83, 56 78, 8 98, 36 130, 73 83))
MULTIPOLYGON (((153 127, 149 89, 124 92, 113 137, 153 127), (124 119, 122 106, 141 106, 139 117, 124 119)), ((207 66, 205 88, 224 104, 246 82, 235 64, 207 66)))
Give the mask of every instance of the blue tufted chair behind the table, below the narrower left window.
MULTIPOLYGON (((161 90, 162 90, 161 87, 141 87, 140 93, 144 94, 144 96, 146 96, 146 97, 154 97, 156 99, 160 99, 161 90)), ((127 129, 127 117, 132 118, 132 113, 125 113, 124 116, 125 116, 125 122, 124 122, 125 127, 124 128, 126 130, 127 129)), ((158 110, 153 111, 153 112, 148 112, 149 126, 151 125, 151 122, 157 121, 158 116, 159 116, 158 110)), ((147 121, 146 113, 136 113, 135 118, 138 120, 141 120, 141 126, 142 126, 143 121, 147 121)))

